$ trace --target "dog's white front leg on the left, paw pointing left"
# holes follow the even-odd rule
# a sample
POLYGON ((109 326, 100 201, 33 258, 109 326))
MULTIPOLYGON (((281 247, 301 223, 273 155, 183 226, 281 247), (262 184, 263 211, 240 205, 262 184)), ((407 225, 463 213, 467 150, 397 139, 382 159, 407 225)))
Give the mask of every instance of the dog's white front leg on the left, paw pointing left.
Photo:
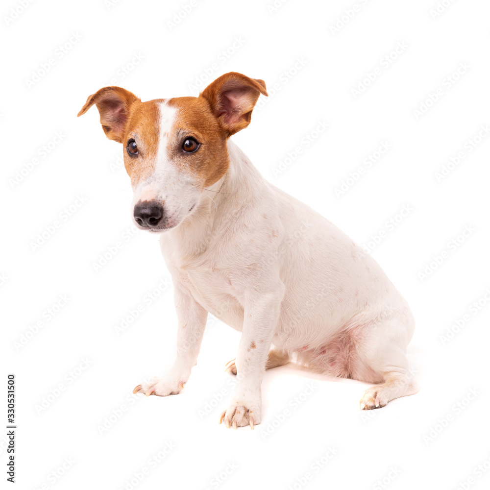
POLYGON ((155 376, 138 385, 133 393, 167 396, 177 394, 187 383, 191 369, 196 366, 208 312, 190 292, 174 281, 177 311, 177 358, 167 374, 155 376))

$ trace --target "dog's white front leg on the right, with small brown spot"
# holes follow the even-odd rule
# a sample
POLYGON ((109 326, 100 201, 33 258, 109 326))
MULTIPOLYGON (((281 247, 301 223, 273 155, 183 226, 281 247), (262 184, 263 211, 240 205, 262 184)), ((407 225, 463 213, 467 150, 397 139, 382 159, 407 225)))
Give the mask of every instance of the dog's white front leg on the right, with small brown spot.
POLYGON ((266 370, 267 355, 280 315, 284 286, 270 294, 247 297, 244 308, 242 338, 235 361, 236 386, 228 409, 220 417, 226 427, 233 428, 259 424, 261 420, 262 377, 266 370))

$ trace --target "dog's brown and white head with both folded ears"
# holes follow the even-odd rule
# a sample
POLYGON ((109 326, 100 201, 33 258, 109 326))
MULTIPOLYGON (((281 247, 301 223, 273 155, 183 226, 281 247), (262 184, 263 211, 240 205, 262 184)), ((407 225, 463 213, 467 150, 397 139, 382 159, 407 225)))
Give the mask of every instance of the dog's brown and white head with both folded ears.
POLYGON ((134 191, 133 219, 162 232, 180 224, 203 191, 228 169, 226 140, 248 126, 263 80, 226 73, 199 97, 142 102, 121 87, 91 95, 78 116, 96 105, 106 136, 123 144, 134 191))

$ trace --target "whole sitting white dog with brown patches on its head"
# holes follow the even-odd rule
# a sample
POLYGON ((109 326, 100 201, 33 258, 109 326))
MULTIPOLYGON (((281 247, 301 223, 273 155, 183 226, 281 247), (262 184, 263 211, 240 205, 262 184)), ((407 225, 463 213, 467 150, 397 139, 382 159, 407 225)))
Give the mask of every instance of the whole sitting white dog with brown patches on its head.
POLYGON ((208 312, 242 332, 226 427, 261 421, 266 369, 305 368, 372 386, 364 410, 414 394, 406 348, 415 321, 374 259, 330 221, 267 182, 229 139, 248 126, 263 80, 226 73, 198 97, 142 102, 120 87, 87 98, 123 144, 133 220, 160 234, 178 318, 170 372, 134 393, 179 393, 208 312))

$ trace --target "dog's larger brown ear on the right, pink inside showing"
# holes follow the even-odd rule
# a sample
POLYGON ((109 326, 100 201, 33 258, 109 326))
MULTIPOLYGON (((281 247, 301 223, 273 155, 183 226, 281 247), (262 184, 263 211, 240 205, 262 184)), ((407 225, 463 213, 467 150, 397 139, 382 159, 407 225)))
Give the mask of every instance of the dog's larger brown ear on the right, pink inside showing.
POLYGON ((208 85, 199 97, 209 102, 221 127, 231 136, 248 126, 260 94, 267 96, 264 80, 230 72, 208 85))

